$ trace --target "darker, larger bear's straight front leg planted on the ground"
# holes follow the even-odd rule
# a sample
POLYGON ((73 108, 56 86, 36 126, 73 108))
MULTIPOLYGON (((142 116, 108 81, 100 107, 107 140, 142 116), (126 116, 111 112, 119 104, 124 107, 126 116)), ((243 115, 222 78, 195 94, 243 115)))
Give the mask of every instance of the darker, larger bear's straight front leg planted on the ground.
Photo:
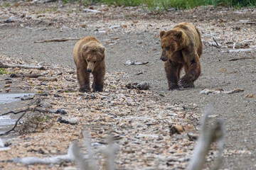
POLYGON ((171 60, 164 63, 169 90, 178 89, 178 79, 180 77, 182 67, 182 64, 171 62, 171 60))

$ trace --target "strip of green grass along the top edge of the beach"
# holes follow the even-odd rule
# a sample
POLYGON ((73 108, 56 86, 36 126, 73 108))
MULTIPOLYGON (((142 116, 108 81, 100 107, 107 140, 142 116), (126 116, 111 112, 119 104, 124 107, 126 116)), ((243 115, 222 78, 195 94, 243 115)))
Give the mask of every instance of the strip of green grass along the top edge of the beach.
MULTIPOLYGON (((69 1, 69 0, 64 0, 69 1)), ((86 1, 86 0, 84 0, 86 1)), ((87 1, 88 2, 88 1, 87 1)), ((256 0, 90 0, 90 3, 102 3, 114 6, 147 6, 150 11, 164 11, 169 8, 194 8, 196 6, 256 6, 256 0)))

